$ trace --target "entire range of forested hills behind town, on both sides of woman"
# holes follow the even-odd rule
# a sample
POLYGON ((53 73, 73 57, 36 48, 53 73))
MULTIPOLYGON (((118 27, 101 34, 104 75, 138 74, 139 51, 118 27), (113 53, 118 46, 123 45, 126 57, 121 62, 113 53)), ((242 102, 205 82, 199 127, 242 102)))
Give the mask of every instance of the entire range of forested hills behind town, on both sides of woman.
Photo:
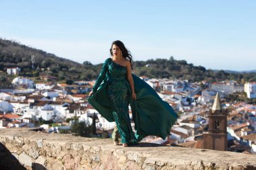
MULTIPOLYGON (((55 54, 24 46, 18 42, 0 39, 0 71, 5 73, 9 67, 20 67, 22 76, 51 75, 57 77, 57 81, 72 83, 72 81, 77 80, 95 79, 102 64, 92 65, 90 61, 79 64, 55 56, 55 54), (34 60, 32 60, 32 55, 34 55, 34 60)), ((172 56, 169 59, 135 61, 133 68, 133 73, 136 75, 146 75, 152 78, 206 80, 210 82, 226 79, 256 81, 256 73, 226 73, 225 71, 207 70, 204 67, 189 64, 186 60, 175 60, 172 56)), ((1 82, 8 78, 3 73, 0 77, 1 82)))

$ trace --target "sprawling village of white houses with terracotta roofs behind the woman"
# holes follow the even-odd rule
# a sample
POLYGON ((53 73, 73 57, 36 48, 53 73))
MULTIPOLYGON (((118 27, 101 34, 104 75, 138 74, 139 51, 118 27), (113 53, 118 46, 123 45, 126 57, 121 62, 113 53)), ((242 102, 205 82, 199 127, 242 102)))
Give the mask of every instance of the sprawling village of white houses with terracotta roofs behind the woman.
MULTIPOLYGON (((19 71, 19 68, 7 69, 9 75, 18 75, 19 71)), ((256 98, 256 82, 192 83, 140 78, 179 114, 170 136, 165 139, 148 136, 144 142, 205 148, 203 140, 207 142, 204 136, 208 129, 214 126, 218 130, 224 124, 226 137, 218 142, 226 144, 226 150, 256 153, 256 105, 226 99, 235 92, 245 92, 249 99, 256 98), (211 122, 212 110, 226 110, 226 117, 223 121, 211 122)), ((115 122, 106 121, 87 101, 95 81, 75 81, 73 85, 67 85, 56 82, 56 77, 45 75, 34 83, 32 79, 17 76, 12 87, 0 87, 0 128, 42 128, 47 133, 58 133, 68 130, 73 118, 92 124, 93 116, 96 116, 96 134, 110 137, 115 122)), ((134 127, 131 111, 130 118, 134 127)))

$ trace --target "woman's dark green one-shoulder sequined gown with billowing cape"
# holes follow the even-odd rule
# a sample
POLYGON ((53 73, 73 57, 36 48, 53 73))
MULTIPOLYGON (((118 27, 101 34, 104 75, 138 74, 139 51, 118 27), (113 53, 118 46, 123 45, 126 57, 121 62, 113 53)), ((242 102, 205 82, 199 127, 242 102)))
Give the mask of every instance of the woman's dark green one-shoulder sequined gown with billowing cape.
POLYGON ((135 101, 131 98, 126 67, 118 65, 111 58, 106 59, 88 101, 108 122, 116 122, 122 143, 137 144, 137 141, 149 135, 165 139, 177 120, 177 114, 148 83, 135 75, 132 77, 137 97, 135 101), (135 134, 129 118, 129 104, 135 134))

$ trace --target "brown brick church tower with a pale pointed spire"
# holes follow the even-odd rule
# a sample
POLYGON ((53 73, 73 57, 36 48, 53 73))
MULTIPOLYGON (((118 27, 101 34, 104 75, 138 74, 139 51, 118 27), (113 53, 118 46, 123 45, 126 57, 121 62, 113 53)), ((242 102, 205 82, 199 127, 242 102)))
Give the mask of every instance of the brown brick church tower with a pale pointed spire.
POLYGON ((222 110, 220 95, 217 93, 209 118, 208 132, 203 133, 203 148, 227 151, 227 111, 222 110))

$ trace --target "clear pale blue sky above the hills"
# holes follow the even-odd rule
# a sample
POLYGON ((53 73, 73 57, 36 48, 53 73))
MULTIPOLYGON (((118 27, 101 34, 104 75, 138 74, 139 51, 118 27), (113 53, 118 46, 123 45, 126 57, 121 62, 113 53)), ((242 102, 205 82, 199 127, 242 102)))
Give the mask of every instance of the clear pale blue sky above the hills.
POLYGON ((121 40, 134 60, 256 69, 256 1, 1 0, 0 38, 76 62, 104 62, 121 40))

